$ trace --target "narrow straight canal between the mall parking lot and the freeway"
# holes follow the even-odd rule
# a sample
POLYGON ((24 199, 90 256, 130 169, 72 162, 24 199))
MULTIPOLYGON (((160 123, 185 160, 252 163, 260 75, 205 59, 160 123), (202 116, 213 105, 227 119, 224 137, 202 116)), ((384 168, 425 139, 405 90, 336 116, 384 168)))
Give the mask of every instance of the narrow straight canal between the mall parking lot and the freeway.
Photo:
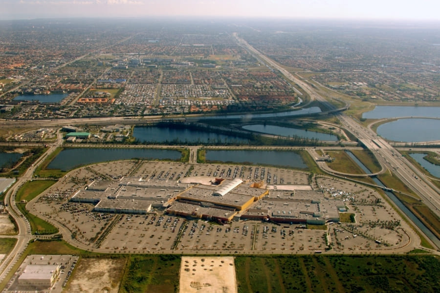
MULTIPOLYGON (((353 159, 354 162, 356 162, 357 165, 359 165, 359 167, 361 167, 362 170, 364 170, 365 173, 369 174, 371 173, 371 171, 364 165, 362 164, 361 161, 359 161, 356 156, 353 155, 353 153, 351 151, 347 151, 347 154, 350 156, 350 158, 353 159)), ((385 187, 385 185, 383 185, 383 183, 377 179, 375 176, 372 177, 374 183, 380 187, 385 187)), ((386 191, 384 190, 385 194, 396 204, 396 206, 403 211, 403 213, 411 219, 411 221, 437 246, 440 247, 440 239, 436 237, 436 235, 434 235, 433 232, 431 232, 431 230, 429 230, 417 217, 416 215, 413 214, 413 212, 411 210, 409 210, 407 207, 405 207, 405 205, 396 197, 396 195, 394 195, 393 192, 391 191, 386 191)))

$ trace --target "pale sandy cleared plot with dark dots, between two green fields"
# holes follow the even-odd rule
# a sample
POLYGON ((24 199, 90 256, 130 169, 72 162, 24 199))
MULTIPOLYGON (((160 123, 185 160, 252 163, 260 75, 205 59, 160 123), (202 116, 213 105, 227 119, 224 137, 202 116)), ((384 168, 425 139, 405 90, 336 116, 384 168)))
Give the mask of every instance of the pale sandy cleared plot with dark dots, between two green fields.
POLYGON ((234 258, 182 256, 180 293, 236 293, 234 258))

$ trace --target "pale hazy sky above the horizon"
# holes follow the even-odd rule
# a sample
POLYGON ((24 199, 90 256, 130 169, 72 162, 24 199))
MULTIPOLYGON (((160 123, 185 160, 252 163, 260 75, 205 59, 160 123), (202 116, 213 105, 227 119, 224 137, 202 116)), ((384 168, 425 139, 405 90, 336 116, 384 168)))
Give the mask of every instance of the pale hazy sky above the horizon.
POLYGON ((1 0, 0 19, 221 16, 440 20, 440 0, 1 0))

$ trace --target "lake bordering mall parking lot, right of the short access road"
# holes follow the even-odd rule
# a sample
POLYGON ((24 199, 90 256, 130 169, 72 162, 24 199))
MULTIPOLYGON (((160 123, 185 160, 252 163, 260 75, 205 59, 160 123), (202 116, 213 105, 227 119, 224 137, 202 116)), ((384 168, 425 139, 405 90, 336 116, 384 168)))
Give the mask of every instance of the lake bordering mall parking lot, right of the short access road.
POLYGON ((276 150, 206 150, 207 161, 251 163, 307 168, 301 156, 291 151, 276 150))

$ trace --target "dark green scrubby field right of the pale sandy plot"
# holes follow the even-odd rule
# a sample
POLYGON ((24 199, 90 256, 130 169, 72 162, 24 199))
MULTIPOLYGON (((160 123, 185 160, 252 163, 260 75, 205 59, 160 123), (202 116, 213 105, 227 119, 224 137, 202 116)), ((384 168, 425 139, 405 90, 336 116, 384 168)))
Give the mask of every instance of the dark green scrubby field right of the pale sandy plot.
POLYGON ((239 293, 438 292, 433 255, 239 256, 239 293))

